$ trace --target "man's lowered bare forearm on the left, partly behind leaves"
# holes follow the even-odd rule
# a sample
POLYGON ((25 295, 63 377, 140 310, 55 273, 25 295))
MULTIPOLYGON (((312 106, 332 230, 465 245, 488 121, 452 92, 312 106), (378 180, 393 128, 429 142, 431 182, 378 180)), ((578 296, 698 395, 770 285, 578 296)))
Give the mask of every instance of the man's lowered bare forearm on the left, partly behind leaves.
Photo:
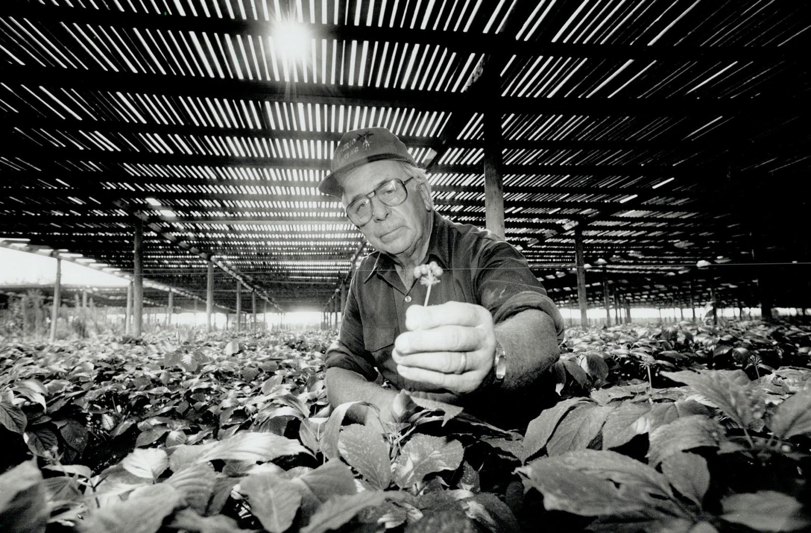
MULTIPOLYGON (((333 406, 346 402, 369 402, 380 409, 380 419, 393 422, 392 402, 397 392, 384 389, 365 377, 345 368, 328 368, 324 374, 327 386, 327 398, 333 406)), ((347 412, 356 422, 365 422, 370 409, 366 406, 352 406, 347 412)))

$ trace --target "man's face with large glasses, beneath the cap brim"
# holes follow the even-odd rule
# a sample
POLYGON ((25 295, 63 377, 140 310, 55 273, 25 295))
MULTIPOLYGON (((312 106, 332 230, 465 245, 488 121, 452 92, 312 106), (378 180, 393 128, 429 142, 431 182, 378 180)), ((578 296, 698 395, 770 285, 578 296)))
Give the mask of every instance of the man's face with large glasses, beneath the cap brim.
MULTIPOLYGON (((392 178, 405 182, 410 177, 394 161, 367 163, 341 179, 344 206, 392 178)), ((376 197, 372 198, 371 220, 360 226, 373 247, 393 256, 410 256, 428 238, 431 199, 427 188, 417 180, 411 180, 405 187, 408 197, 400 205, 388 206, 376 197)))

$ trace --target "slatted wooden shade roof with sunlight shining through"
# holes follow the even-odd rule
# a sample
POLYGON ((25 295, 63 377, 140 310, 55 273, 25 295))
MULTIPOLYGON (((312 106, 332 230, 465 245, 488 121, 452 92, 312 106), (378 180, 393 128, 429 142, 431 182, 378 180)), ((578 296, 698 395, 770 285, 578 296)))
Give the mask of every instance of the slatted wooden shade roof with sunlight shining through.
POLYGON ((213 259, 223 307, 238 277, 320 309, 370 249, 317 184, 384 126, 455 221, 485 225, 500 157, 506 238, 558 301, 576 226, 624 294, 748 299, 753 248, 809 260, 809 26, 770 0, 6 0, 0 237, 131 272, 142 221, 154 282, 204 296, 213 259))

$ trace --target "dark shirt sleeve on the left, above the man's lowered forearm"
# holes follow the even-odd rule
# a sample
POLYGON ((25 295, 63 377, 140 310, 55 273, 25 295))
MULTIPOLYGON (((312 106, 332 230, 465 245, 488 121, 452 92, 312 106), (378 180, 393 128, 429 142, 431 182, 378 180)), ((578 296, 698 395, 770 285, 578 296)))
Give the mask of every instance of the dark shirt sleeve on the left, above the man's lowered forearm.
POLYGON ((350 283, 349 294, 346 295, 341 333, 327 349, 325 368, 345 368, 374 381, 377 378, 375 359, 363 346, 363 325, 360 321, 358 300, 355 299, 354 285, 358 282, 357 278, 356 273, 350 283))

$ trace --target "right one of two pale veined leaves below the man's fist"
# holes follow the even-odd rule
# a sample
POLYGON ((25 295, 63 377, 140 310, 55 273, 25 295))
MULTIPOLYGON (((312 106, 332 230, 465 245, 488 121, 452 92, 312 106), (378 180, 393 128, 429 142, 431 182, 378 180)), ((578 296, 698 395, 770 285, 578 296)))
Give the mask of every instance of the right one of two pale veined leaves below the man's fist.
POLYGON ((418 434, 405 443, 395 463, 395 481, 401 488, 419 483, 426 475, 456 470, 465 450, 459 441, 418 434))

